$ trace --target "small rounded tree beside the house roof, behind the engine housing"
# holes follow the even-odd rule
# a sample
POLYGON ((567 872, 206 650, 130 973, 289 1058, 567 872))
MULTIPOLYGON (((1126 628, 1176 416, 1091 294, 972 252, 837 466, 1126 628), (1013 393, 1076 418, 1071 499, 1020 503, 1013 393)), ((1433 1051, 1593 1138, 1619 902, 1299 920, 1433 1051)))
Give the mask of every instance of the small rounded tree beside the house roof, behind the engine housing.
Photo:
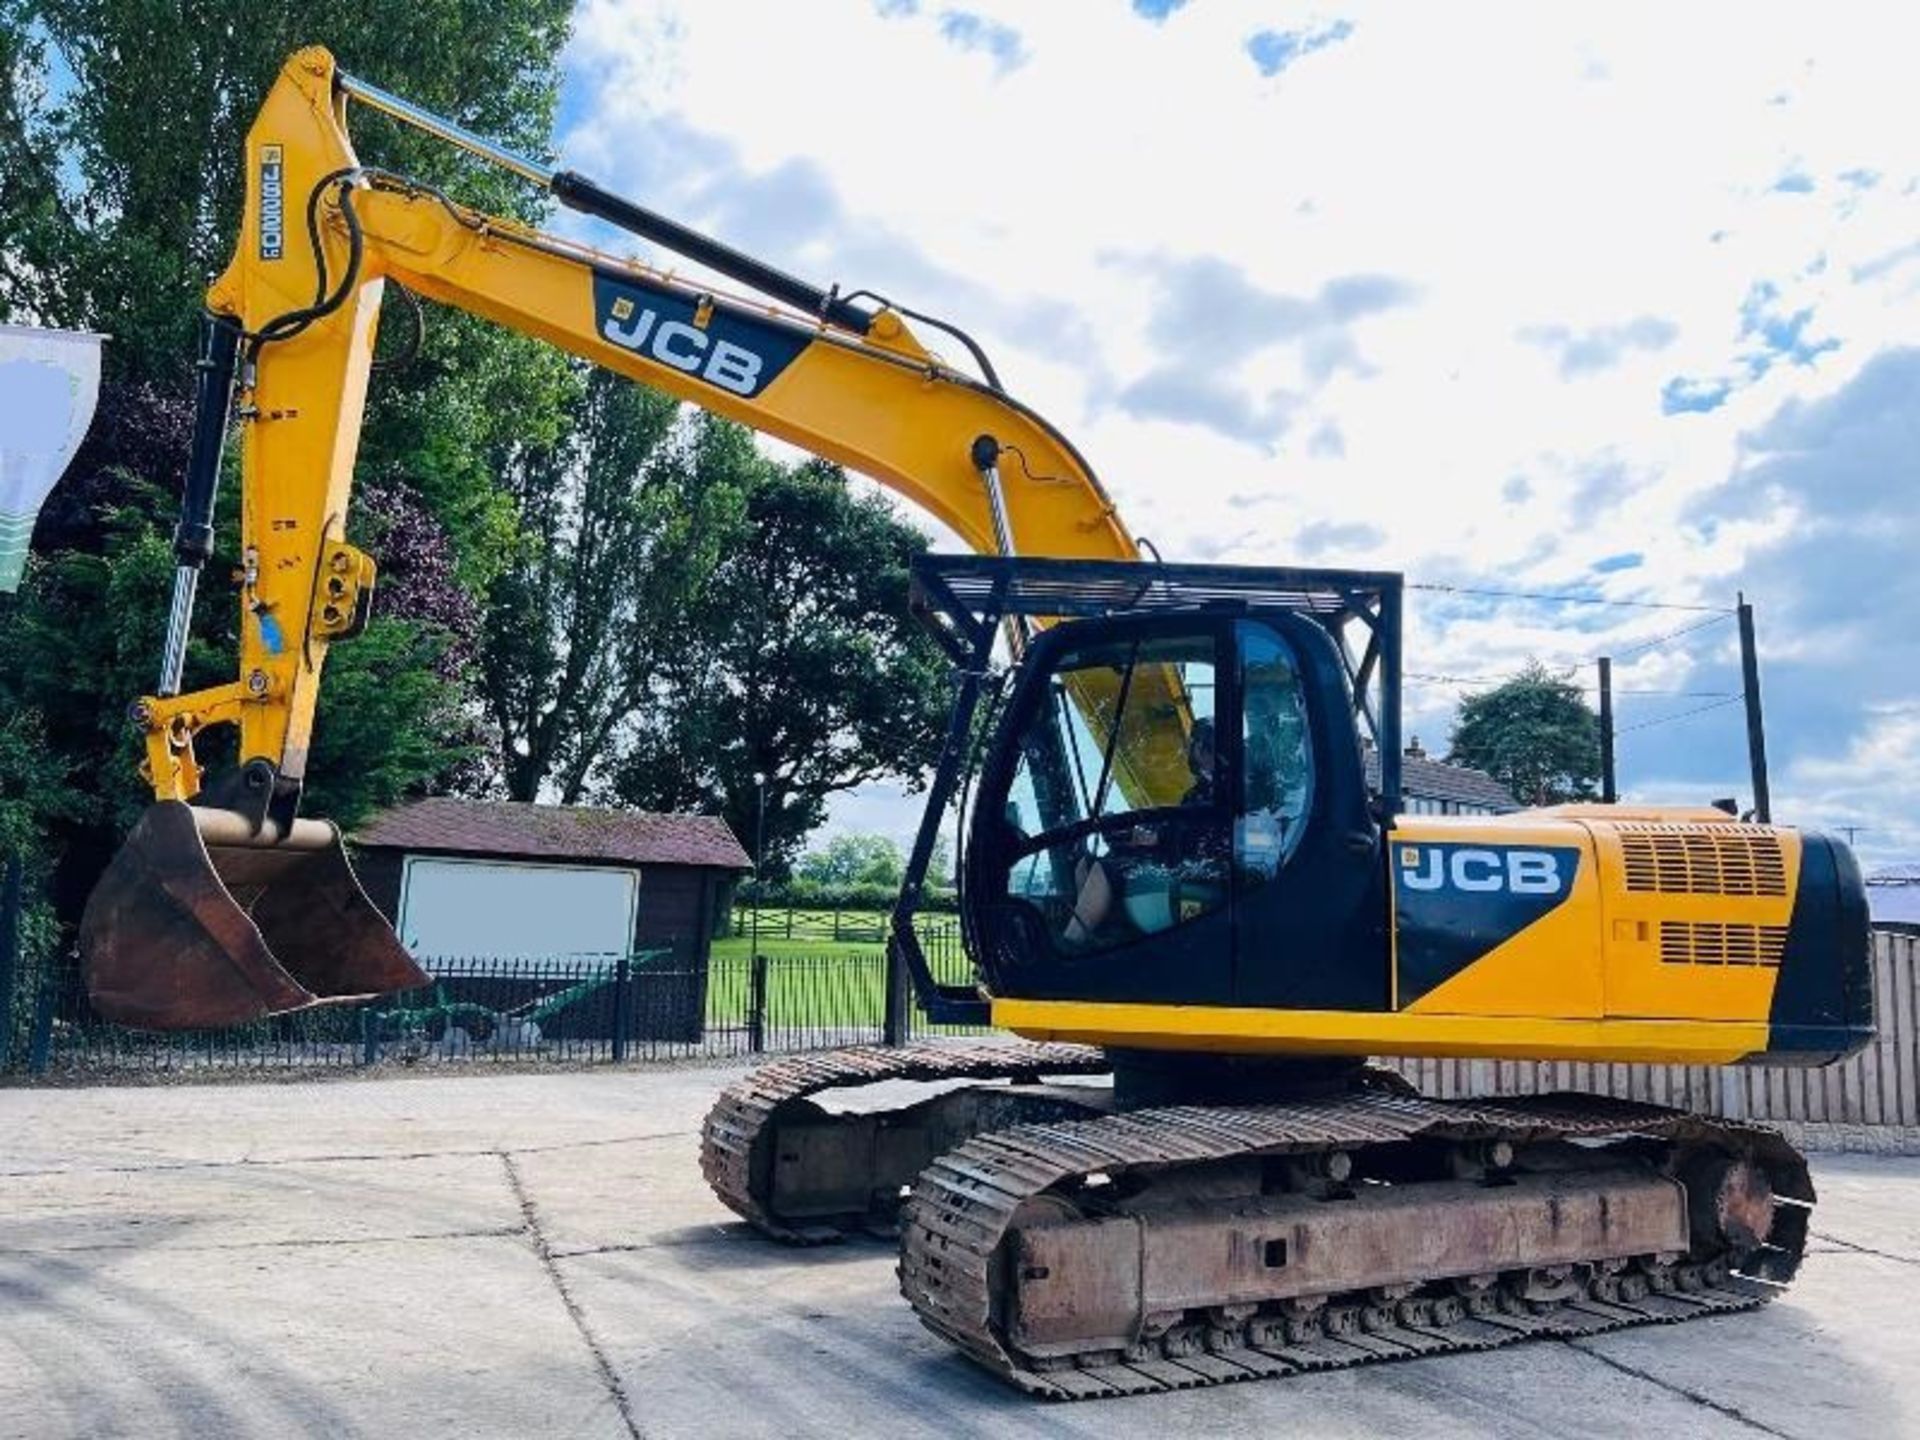
POLYGON ((1599 783, 1599 718, 1569 676, 1528 660, 1461 701, 1448 760, 1484 770, 1523 804, 1588 801, 1599 783))

